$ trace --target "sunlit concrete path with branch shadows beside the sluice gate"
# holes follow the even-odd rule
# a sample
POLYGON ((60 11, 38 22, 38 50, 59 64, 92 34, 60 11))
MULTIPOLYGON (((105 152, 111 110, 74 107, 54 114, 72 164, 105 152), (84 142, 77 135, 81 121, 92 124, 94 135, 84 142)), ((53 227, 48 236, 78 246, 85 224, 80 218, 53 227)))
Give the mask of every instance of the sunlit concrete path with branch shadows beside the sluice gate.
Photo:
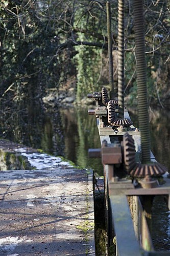
POLYGON ((95 255, 92 175, 63 166, 0 175, 0 255, 95 255))

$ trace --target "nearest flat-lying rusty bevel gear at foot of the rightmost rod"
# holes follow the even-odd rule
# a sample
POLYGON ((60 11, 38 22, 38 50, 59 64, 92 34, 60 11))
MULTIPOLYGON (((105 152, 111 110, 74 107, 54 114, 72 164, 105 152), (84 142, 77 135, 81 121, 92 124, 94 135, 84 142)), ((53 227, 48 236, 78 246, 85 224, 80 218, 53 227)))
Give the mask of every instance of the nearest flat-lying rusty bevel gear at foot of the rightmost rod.
POLYGON ((167 168, 158 162, 150 164, 138 163, 130 172, 133 177, 143 178, 146 176, 158 177, 167 172, 167 168))

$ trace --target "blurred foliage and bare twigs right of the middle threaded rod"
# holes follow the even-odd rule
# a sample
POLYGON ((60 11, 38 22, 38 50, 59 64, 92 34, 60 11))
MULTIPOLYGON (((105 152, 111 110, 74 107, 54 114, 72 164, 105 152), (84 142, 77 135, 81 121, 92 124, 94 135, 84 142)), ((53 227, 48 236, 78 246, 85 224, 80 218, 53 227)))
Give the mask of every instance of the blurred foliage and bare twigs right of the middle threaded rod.
MULTIPOLYGON (((168 1, 156 2, 144 1, 144 23, 145 23, 145 49, 147 65, 147 86, 150 104, 160 104, 161 101, 168 99, 168 76, 169 62, 168 56, 170 50, 169 44, 169 20, 168 20, 168 1)), ((127 9, 129 15, 130 9, 127 9)), ((133 17, 133 16, 132 16, 133 17)), ((135 77, 135 52, 134 51, 134 30, 132 20, 126 26, 126 44, 127 48, 132 49, 126 52, 126 73, 127 82, 126 94, 130 94, 128 103, 137 103, 136 96, 136 77, 135 77)))

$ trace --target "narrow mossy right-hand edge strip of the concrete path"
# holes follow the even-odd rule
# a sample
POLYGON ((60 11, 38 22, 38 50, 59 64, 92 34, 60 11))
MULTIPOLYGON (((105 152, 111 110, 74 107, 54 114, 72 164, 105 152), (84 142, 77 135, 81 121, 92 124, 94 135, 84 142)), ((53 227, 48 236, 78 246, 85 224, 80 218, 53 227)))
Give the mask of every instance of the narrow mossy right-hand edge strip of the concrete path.
POLYGON ((95 238, 94 238, 94 195, 93 195, 93 170, 87 171, 87 219, 89 220, 89 231, 87 232, 87 255, 95 255, 95 238))

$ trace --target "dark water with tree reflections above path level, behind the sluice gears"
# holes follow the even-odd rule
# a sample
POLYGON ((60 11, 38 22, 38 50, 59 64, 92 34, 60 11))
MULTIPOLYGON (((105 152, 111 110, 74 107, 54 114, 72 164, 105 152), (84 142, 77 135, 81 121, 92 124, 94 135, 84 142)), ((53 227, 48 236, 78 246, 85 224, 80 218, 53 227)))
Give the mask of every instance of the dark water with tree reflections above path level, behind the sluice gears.
MULTIPOLYGON (((101 144, 96 119, 87 115, 87 108, 52 109, 45 113, 30 109, 27 118, 14 113, 13 119, 3 120, 1 137, 65 156, 83 168, 91 167, 102 174, 101 159, 88 157, 88 148, 98 148, 101 144)), ((136 109, 128 110, 134 126, 138 127, 136 109)), ((170 169, 170 113, 150 109, 150 119, 151 150, 157 161, 170 169)))

